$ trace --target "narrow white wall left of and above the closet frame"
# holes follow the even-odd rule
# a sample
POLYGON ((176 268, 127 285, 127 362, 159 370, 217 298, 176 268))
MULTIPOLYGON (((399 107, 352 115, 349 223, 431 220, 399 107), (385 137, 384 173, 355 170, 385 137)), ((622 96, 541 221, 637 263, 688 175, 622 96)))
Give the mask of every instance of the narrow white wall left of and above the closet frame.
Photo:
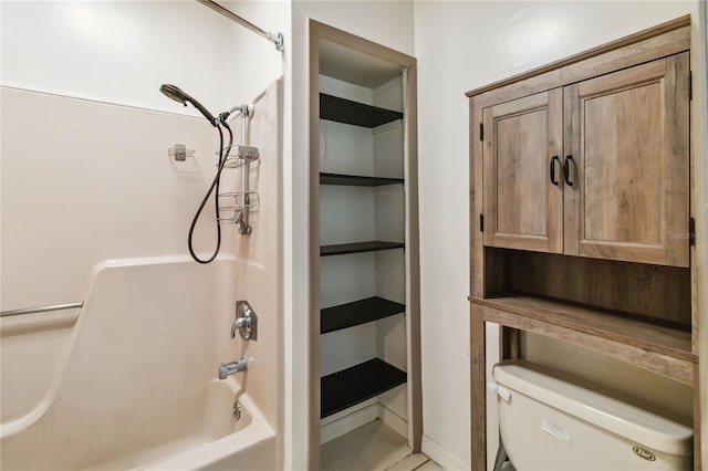
MULTIPOLYGON (((308 19, 412 54, 413 3, 408 1, 294 1, 292 3, 292 160, 284 168, 285 230, 285 469, 306 470, 309 404, 308 327, 310 154, 308 19), (392 28, 395 24, 396 28, 392 28), (288 448, 290 447, 290 448, 288 448)), ((285 84, 288 86, 288 83, 285 84)), ((285 108, 288 112, 288 108, 285 108)), ((285 137, 288 143, 288 135, 285 137)), ((316 344, 315 344, 316 345, 316 344)))

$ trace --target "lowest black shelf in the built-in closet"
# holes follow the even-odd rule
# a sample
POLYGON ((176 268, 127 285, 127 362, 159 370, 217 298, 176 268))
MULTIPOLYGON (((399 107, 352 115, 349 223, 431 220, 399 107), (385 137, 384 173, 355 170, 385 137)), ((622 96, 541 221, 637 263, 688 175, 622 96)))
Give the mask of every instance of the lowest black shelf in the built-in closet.
POLYGON ((323 376, 320 378, 321 418, 376 397, 406 380, 406 371, 378 358, 323 376))

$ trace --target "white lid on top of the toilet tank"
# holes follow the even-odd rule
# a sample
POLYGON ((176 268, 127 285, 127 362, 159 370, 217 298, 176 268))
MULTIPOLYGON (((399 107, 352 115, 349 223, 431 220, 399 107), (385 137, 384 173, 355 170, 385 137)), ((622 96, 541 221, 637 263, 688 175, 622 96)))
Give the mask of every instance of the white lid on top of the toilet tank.
POLYGON ((622 402, 600 393, 573 385, 538 366, 514 360, 494 365, 497 383, 550 407, 656 451, 691 454, 694 432, 689 427, 622 402))

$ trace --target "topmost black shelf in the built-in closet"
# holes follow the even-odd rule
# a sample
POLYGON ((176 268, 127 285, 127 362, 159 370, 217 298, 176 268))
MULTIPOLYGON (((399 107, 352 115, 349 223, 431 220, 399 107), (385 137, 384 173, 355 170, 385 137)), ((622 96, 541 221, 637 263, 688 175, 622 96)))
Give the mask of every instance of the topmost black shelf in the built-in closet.
POLYGON ((320 118, 373 128, 382 124, 402 119, 403 113, 321 93, 320 118))

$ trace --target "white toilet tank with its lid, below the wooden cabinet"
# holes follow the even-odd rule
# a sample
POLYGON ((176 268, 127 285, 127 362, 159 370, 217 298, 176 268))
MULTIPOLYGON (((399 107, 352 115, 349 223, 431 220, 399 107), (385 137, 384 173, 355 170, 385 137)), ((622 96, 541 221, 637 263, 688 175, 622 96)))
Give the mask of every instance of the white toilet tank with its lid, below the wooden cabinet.
POLYGON ((494 366, 499 427, 518 471, 693 469, 693 430, 530 363, 494 366))

